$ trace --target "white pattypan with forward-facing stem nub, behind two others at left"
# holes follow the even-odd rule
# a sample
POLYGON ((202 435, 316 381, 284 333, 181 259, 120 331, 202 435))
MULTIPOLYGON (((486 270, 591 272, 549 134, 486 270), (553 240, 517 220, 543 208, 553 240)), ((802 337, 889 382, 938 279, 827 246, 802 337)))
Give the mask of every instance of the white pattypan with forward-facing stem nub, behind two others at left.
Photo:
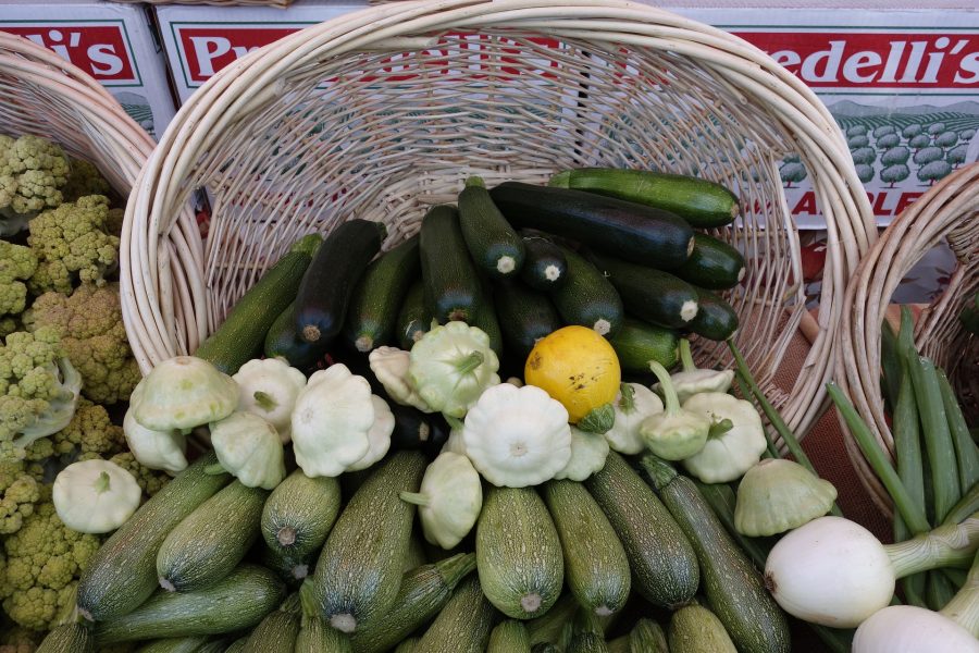
POLYGON ((238 410, 253 412, 275 427, 283 444, 292 440, 293 406, 306 387, 306 374, 282 358, 249 360, 232 379, 238 384, 238 410))

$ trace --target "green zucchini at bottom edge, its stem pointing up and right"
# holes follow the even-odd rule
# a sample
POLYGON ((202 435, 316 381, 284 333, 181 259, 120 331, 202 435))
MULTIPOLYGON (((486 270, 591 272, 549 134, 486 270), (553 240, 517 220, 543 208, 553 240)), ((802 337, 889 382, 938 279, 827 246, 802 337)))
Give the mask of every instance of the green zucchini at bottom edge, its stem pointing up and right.
POLYGON ((475 569, 475 555, 460 553, 407 571, 394 606, 358 628, 357 653, 383 653, 427 623, 448 603, 453 591, 475 569))

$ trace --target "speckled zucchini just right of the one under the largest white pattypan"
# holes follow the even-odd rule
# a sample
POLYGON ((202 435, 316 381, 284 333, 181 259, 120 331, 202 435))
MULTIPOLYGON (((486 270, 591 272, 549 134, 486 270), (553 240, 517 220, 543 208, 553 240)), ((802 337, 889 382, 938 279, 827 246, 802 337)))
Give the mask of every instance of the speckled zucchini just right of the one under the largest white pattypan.
POLYGON ((629 558, 602 508, 575 481, 548 481, 543 494, 561 540, 571 593, 599 616, 622 609, 631 588, 629 558))

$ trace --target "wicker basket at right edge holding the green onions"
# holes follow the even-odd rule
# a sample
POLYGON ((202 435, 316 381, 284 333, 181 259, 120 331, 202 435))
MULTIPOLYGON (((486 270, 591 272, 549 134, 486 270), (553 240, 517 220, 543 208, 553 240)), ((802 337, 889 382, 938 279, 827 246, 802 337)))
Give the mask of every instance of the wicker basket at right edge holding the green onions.
MULTIPOLYGON (((958 321, 979 292, 979 163, 967 165, 908 207, 867 252, 846 289, 837 350, 837 382, 893 458, 894 439, 884 418, 880 386, 880 328, 901 280, 931 248, 947 242, 957 264, 947 287, 919 316, 915 344, 945 370, 963 408, 979 417, 979 338, 958 321)), ((891 500, 846 430, 846 452, 875 503, 893 514, 891 500)))

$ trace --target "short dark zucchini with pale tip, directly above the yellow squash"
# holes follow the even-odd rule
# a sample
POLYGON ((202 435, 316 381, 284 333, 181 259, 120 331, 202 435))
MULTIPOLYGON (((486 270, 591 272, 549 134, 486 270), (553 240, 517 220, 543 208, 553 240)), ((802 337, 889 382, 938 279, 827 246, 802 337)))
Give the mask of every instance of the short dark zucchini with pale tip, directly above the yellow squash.
POLYGON ((568 279, 550 293, 565 324, 594 329, 614 336, 622 326, 622 299, 605 275, 578 252, 561 248, 568 261, 568 279))

